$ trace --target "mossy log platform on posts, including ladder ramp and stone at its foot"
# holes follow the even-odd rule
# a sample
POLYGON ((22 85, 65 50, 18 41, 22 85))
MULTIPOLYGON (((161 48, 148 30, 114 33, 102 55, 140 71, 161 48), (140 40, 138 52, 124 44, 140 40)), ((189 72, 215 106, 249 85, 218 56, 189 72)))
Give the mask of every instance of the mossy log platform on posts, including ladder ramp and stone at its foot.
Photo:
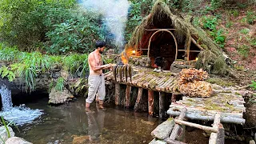
POLYGON ((198 129, 212 132, 209 143, 223 143, 225 134, 222 122, 244 124, 243 112, 246 107, 242 95, 236 87, 222 87, 212 84, 213 94, 208 98, 190 98, 182 96, 177 99, 177 95, 181 94, 178 90, 178 74, 170 71, 154 72, 150 68, 142 66, 133 66, 134 75, 131 78, 120 78, 116 80, 112 72, 105 75, 106 80, 115 83, 115 104, 120 105, 120 84, 126 85, 125 106, 130 106, 130 90, 132 86, 138 87, 137 101, 134 110, 137 109, 142 99, 142 90, 148 90, 148 111, 153 115, 154 111, 154 91, 159 92, 159 117, 165 114, 163 109, 164 95, 171 94, 171 104, 169 110, 166 111, 170 117, 177 118, 168 119, 159 125, 152 136, 154 140, 150 143, 183 143, 178 142, 178 133, 183 130, 182 126, 192 126, 198 129), (192 122, 186 122, 186 119, 214 121, 213 127, 202 126, 192 122))

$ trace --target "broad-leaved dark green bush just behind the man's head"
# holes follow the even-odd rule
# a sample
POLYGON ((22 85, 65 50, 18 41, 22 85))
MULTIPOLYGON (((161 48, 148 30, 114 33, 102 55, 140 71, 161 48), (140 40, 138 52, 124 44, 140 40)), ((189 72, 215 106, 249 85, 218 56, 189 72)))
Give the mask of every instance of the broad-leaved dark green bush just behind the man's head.
POLYGON ((103 39, 103 33, 97 22, 88 15, 78 16, 73 12, 73 18, 60 24, 55 24, 54 30, 46 33, 46 50, 52 54, 76 51, 86 53, 94 49, 95 39, 103 39))

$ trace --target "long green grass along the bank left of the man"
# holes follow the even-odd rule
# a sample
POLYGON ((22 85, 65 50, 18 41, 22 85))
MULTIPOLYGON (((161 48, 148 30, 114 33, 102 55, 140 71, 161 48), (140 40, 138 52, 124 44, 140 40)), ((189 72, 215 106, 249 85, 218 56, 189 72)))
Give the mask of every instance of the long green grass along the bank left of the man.
MULTIPOLYGON (((53 67, 64 67, 71 76, 84 77, 89 72, 87 54, 47 55, 38 51, 28 53, 18 51, 16 47, 8 47, 0 43, 0 61, 10 62, 10 66, 2 66, 0 75, 8 78, 10 82, 14 78, 21 78, 25 82, 26 91, 34 91, 35 78, 39 74, 52 73, 53 67)), ((106 59, 106 61, 110 61, 106 59)), ((62 79, 57 83, 62 83, 62 79)), ((62 90, 62 85, 57 85, 62 90)))

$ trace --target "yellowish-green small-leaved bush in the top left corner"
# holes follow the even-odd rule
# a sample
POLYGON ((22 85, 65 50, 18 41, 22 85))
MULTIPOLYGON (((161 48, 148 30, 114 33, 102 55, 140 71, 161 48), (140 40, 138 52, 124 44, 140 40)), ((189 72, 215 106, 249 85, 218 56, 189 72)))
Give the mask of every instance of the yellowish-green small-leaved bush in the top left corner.
POLYGON ((42 0, 13 0, 0 2, 0 37, 22 50, 44 41, 46 27, 43 21, 47 15, 46 6, 69 8, 74 6, 74 0, 42 1, 42 0))

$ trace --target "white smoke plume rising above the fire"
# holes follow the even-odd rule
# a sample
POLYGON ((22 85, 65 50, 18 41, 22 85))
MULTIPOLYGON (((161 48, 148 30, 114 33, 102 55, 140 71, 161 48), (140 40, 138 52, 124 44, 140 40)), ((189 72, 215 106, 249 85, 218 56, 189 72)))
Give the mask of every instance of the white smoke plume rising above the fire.
POLYGON ((114 34, 115 45, 122 48, 130 6, 128 0, 82 0, 81 2, 86 10, 92 10, 103 16, 102 21, 110 33, 114 34))

